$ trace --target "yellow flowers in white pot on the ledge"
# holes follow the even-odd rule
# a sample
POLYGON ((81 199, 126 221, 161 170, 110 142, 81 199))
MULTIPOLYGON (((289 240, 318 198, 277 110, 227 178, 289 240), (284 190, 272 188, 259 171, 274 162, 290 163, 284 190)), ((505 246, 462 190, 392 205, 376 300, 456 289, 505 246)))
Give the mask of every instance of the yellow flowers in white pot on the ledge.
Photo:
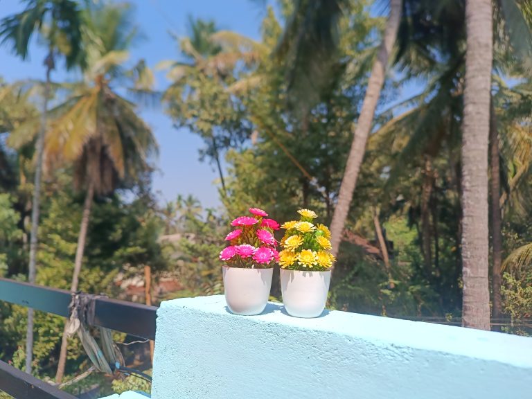
POLYGON ((330 231, 314 224, 317 214, 300 209, 300 220, 285 222, 279 253, 281 293, 285 309, 294 317, 318 317, 325 309, 330 283, 330 231))

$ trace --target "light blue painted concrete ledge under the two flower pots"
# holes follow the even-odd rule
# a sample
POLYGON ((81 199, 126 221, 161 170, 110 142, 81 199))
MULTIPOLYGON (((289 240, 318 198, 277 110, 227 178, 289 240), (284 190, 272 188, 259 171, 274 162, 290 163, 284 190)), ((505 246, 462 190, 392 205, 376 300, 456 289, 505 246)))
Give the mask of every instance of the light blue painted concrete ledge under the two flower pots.
POLYGON ((153 399, 532 398, 532 338, 348 312, 161 304, 153 399))

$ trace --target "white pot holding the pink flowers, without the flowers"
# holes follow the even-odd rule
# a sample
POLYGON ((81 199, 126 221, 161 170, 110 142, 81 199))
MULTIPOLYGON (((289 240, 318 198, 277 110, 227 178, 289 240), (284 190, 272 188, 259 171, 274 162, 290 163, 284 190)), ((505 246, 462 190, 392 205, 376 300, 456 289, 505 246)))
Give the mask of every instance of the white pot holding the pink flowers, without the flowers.
POLYGON ((273 267, 240 269, 222 266, 227 307, 235 314, 260 314, 266 307, 272 288, 273 267))

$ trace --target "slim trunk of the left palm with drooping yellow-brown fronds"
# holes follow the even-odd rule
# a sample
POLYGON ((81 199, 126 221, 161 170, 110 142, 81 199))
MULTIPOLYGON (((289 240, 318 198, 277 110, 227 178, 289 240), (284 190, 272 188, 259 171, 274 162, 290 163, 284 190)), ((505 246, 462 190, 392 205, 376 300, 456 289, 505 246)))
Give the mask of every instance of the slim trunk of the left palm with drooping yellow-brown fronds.
MULTIPOLYGON (((83 215, 81 218, 80 235, 78 236, 78 247, 76 248, 76 260, 74 260, 74 273, 72 276, 72 283, 70 285, 70 292, 78 290, 78 283, 80 280, 81 263, 83 260, 83 252, 85 251, 85 241, 87 240, 87 229, 89 227, 89 218, 91 216, 91 205, 94 197, 94 184, 89 183, 87 193, 85 194, 85 203, 83 204, 83 215)), ((64 366, 67 364, 67 326, 68 322, 64 324, 63 337, 61 340, 61 352, 59 354, 59 364, 57 364, 57 372, 55 373, 55 382, 59 384, 63 380, 64 366)))

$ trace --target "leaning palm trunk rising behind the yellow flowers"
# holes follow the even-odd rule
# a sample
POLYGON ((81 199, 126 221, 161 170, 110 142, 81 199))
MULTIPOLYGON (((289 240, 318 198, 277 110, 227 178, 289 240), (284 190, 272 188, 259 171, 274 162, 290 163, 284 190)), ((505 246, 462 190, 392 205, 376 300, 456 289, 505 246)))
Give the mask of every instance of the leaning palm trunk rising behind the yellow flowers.
POLYGON ((362 159, 366 150, 366 141, 373 123, 375 108, 380 96, 382 85, 384 84, 384 75, 387 69, 389 55, 396 42, 397 30, 401 19, 402 0, 390 0, 390 16, 384 30, 384 38, 380 45, 380 50, 373 63, 371 76, 369 77, 366 96, 362 103, 362 110, 358 123, 353 135, 351 150, 348 155, 344 177, 340 186, 338 202, 335 212, 332 214, 330 225, 332 254, 337 256, 339 245, 342 241, 342 233, 346 224, 347 215, 353 199, 357 177, 360 172, 362 159))

